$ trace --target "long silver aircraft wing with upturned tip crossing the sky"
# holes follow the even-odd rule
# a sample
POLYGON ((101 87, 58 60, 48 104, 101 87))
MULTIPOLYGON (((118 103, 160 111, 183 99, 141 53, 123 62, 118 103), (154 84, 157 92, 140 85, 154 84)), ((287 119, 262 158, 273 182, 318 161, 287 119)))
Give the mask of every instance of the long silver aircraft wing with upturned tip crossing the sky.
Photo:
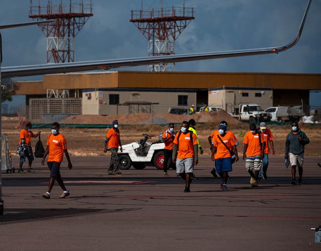
POLYGON ((157 56, 157 57, 10 66, 10 67, 2 67, 1 77, 9 78, 9 77, 23 77, 23 76, 67 73, 67 72, 77 72, 77 71, 108 70, 111 68, 140 66, 140 65, 148 65, 148 64, 178 63, 178 62, 206 60, 206 59, 222 59, 222 58, 279 53, 293 47, 299 41, 299 38, 303 31, 304 23, 308 14, 310 4, 311 4, 311 0, 309 0, 308 2, 308 5, 303 15, 297 35, 290 43, 284 46, 235 50, 235 51, 222 51, 222 52, 178 54, 178 55, 157 56))

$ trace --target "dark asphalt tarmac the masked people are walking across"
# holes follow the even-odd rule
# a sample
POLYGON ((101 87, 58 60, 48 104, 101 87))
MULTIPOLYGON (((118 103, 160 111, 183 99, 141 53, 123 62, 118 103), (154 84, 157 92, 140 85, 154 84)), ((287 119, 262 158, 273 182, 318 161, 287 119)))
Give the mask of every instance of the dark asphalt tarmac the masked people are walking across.
POLYGON ((40 159, 35 173, 3 174, 0 250, 321 250, 310 230, 321 225, 321 157, 305 158, 301 186, 290 185, 283 158, 270 157, 259 188, 240 160, 226 191, 201 157, 191 193, 173 170, 107 176, 109 159, 72 157, 72 170, 64 162, 65 199, 57 184, 50 200, 41 197, 49 172, 40 159))

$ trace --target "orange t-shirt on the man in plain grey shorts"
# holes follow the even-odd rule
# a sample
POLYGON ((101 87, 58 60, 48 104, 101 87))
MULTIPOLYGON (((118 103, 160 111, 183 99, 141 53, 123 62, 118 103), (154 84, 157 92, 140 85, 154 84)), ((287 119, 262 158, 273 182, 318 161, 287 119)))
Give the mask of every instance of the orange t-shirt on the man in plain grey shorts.
POLYGON ((179 133, 176 133, 176 137, 174 139, 174 144, 178 145, 178 154, 177 158, 193 158, 194 157, 194 145, 198 144, 197 137, 195 133, 192 133, 193 143, 190 138, 190 131, 187 131, 186 134, 183 132, 178 138, 179 133))

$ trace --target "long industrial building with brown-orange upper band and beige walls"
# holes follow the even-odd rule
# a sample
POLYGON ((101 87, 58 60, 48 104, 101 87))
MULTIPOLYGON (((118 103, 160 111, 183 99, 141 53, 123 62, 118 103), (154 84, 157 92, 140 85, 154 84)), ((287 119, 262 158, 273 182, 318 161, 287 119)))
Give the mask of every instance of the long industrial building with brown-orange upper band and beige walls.
MULTIPOLYGON (((53 105, 55 109, 47 106, 42 109, 45 116, 62 111, 97 115, 167 113, 170 107, 222 103, 224 109, 232 111, 232 103, 237 106, 240 102, 259 103, 263 109, 302 102, 307 111, 309 92, 321 89, 321 74, 99 71, 44 75, 43 81, 14 84, 15 94, 26 95, 27 106, 38 106, 39 114, 39 98, 51 96, 51 103, 55 98, 68 99, 64 103, 75 106, 74 110, 58 109, 59 104, 53 105)), ((33 110, 29 107, 30 112, 33 110)))

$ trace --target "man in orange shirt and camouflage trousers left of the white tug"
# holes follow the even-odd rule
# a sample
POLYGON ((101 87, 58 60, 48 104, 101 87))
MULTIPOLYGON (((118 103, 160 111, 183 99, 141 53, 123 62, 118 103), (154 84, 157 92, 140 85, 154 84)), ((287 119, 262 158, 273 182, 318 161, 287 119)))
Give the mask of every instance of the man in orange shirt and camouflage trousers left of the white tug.
POLYGON ((121 142, 120 142, 120 131, 118 129, 118 120, 113 121, 113 127, 107 132, 105 138, 104 153, 107 153, 107 147, 112 153, 110 160, 110 165, 107 173, 109 175, 121 174, 119 171, 119 159, 118 159, 118 148, 120 146, 120 151, 122 152, 121 142))

